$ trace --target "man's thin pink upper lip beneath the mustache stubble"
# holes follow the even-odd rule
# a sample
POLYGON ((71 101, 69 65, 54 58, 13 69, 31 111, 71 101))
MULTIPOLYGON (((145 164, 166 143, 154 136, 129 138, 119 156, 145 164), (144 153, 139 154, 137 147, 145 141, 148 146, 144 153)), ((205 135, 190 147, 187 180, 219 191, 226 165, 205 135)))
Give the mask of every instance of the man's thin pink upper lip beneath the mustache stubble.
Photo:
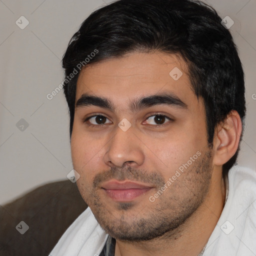
POLYGON ((141 184, 137 182, 132 181, 117 181, 117 180, 111 180, 108 182, 104 182, 101 185, 104 189, 132 189, 132 188, 139 188, 139 189, 146 189, 146 188, 152 188, 151 185, 147 184, 141 184))

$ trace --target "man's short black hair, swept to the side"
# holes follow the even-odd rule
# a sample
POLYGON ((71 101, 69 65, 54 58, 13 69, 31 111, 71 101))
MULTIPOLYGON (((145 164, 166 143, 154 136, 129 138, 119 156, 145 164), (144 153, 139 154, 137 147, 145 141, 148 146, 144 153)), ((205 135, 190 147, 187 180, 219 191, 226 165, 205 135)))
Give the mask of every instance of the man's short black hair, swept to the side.
MULTIPOLYGON (((244 77, 236 46, 221 18, 197 0, 117 0, 92 12, 72 36, 63 56, 64 93, 72 133, 76 82, 80 66, 121 57, 131 51, 179 54, 189 70, 191 87, 202 97, 208 143, 216 125, 233 109, 245 116, 244 77), (96 52, 96 54, 95 54, 96 52), (93 54, 92 54, 93 53, 93 54)), ((223 167, 235 163, 236 153, 223 167)))

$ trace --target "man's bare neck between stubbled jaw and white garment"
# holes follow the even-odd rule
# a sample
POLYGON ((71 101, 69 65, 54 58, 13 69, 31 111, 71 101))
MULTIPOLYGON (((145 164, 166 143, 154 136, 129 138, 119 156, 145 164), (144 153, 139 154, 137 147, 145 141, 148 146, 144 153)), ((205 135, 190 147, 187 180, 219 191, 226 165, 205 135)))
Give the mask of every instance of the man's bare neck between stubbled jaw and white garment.
POLYGON ((149 241, 116 240, 115 256, 197 256, 216 226, 224 200, 225 183, 221 177, 211 183, 201 205, 182 225, 149 241))

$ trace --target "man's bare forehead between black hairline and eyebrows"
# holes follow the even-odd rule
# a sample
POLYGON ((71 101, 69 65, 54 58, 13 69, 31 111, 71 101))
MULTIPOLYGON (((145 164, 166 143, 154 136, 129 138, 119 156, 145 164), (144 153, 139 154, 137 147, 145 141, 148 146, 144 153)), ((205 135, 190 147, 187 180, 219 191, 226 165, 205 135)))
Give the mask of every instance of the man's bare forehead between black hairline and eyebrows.
POLYGON ((131 52, 82 69, 77 81, 76 101, 86 93, 109 98, 125 109, 132 98, 169 91, 189 102, 196 100, 190 86, 187 66, 178 55, 131 52))

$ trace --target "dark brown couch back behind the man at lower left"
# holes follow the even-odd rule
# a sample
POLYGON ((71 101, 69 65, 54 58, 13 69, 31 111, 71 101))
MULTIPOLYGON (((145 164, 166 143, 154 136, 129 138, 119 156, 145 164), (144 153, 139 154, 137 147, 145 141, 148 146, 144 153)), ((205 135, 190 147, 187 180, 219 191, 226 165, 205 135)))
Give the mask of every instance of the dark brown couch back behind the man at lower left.
MULTIPOLYGON (((69 180, 42 185, 0 206, 0 256, 48 255, 87 205, 69 180), (24 221, 29 229, 21 234, 24 221)), ((24 229, 23 229, 24 230, 24 229)))

